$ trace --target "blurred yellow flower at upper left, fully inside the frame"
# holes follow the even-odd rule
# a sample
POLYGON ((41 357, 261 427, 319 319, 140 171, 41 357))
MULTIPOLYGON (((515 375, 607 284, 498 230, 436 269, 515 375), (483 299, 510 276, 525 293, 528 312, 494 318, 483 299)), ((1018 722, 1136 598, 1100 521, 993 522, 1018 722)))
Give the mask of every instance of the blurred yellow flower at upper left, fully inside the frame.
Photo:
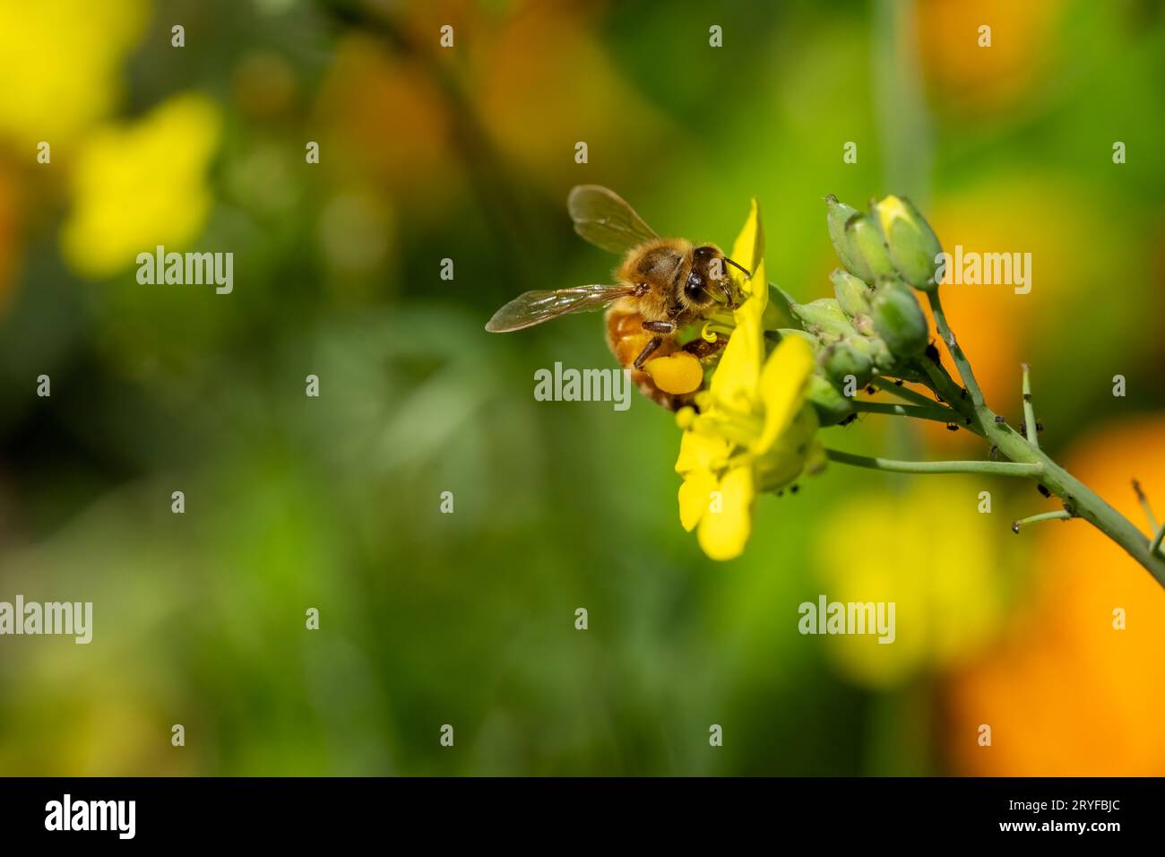
POLYGON ((107 276, 156 245, 181 251, 193 240, 212 203, 206 168, 220 128, 209 97, 184 93, 136 122, 86 139, 61 236, 70 265, 87 276, 107 276))

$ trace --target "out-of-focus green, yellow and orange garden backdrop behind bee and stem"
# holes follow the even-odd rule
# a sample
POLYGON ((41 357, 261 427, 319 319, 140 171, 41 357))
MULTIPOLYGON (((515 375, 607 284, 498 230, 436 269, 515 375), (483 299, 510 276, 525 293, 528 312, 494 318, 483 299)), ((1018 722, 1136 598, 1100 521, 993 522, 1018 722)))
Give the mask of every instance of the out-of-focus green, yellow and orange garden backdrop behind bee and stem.
MULTIPOLYGON (((669 414, 532 398, 556 360, 615 365, 600 318, 482 330, 608 279, 578 183, 721 245, 755 196, 800 300, 831 294, 821 197, 906 194, 947 248, 1033 255, 1029 295, 945 296, 989 402, 1018 421, 1031 363, 1044 445, 1165 514, 1160 3, 0 0, 0 600, 94 604, 89 646, 0 638, 0 773, 1165 774, 1165 593, 1083 524, 1012 535, 1051 507, 1031 485, 833 466, 716 564, 669 414), (233 252, 234 291, 139 285, 157 244, 233 252), (819 593, 895 600, 898 641, 800 635, 819 593)), ((826 440, 984 454, 934 428, 826 440)))

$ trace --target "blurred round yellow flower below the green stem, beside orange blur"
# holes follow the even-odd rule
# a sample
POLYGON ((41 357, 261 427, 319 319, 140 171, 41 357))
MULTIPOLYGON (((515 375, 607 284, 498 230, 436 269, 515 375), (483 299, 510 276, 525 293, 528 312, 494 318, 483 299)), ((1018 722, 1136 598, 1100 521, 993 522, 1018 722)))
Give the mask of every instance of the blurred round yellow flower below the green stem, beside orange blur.
POLYGON ((981 487, 962 477, 915 477, 904 493, 864 494, 821 521, 814 553, 828 598, 895 604, 891 645, 870 634, 829 637, 827 652, 847 679, 892 687, 960 665, 994 639, 1003 616, 1001 531, 997 515, 977 511, 981 487))

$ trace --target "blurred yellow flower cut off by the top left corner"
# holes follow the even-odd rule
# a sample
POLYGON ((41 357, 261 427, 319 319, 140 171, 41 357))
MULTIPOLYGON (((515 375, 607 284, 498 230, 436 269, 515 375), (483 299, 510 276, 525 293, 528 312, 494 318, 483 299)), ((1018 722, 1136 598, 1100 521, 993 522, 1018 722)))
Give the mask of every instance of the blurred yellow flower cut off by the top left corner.
POLYGON ((55 148, 101 119, 148 14, 144 0, 0 0, 0 135, 55 148))

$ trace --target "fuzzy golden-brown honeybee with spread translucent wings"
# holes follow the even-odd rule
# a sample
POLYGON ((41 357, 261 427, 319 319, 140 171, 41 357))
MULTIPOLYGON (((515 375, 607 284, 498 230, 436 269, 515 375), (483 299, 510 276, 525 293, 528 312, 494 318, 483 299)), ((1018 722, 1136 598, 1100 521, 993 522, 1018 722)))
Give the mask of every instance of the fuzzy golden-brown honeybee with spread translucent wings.
POLYGON ((726 344, 723 337, 715 342, 698 337, 680 345, 676 335, 718 307, 737 304, 739 290, 726 264, 751 275, 714 244, 661 238, 607 188, 580 184, 571 190, 566 208, 579 236, 623 257, 614 272, 615 285, 527 291, 497 310, 486 330, 506 333, 570 312, 606 308, 607 346, 630 370, 631 380, 644 395, 672 410, 691 403, 698 391, 673 394, 659 389, 643 364, 678 350, 698 359, 715 354, 726 344))

